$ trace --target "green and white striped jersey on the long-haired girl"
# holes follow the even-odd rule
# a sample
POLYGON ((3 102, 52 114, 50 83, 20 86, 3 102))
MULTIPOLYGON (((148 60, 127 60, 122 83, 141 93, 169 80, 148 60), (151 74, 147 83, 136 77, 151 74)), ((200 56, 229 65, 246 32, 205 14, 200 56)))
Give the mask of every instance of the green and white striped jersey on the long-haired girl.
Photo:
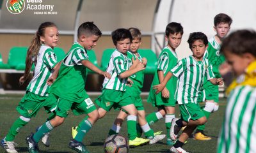
POLYGON ((49 85, 46 81, 52 75, 52 68, 57 64, 57 57, 51 47, 42 45, 36 58, 34 77, 29 82, 27 91, 40 96, 48 96, 49 85))

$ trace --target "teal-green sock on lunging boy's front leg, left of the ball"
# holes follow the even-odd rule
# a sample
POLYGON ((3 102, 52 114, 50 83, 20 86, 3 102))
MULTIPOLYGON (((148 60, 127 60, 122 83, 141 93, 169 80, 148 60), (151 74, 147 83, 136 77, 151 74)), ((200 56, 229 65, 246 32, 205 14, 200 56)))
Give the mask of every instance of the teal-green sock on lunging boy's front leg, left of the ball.
POLYGON ((88 131, 90 131, 91 128, 92 128, 92 123, 85 118, 79 130, 77 131, 77 135, 74 139, 77 140, 77 142, 83 142, 84 136, 86 135, 86 133, 88 133, 88 131))

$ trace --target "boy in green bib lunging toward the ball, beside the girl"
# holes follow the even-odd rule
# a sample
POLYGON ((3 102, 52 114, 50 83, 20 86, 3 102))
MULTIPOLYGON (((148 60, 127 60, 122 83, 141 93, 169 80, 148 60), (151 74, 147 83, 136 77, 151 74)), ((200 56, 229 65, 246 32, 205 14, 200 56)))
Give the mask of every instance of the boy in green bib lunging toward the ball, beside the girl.
MULTIPOLYGON (((87 50, 91 50, 97 44, 101 32, 93 22, 84 22, 77 31, 78 40, 72 45, 61 63, 59 76, 51 86, 51 94, 46 101, 58 101, 56 117, 45 122, 35 133, 26 138, 29 152, 38 152, 38 142, 44 133, 52 131, 60 126, 68 116, 70 109, 75 115, 86 113, 81 122, 81 128, 76 137, 71 139, 68 147, 77 152, 88 152, 82 143, 84 136, 92 128, 92 125, 99 118, 99 113, 92 100, 84 89, 87 76, 87 68, 110 77, 109 73, 101 71, 88 61, 87 50)), ((52 79, 52 78, 51 78, 52 79)), ((50 80, 51 81, 51 80, 50 80)), ((51 84, 51 82, 49 82, 51 84)))

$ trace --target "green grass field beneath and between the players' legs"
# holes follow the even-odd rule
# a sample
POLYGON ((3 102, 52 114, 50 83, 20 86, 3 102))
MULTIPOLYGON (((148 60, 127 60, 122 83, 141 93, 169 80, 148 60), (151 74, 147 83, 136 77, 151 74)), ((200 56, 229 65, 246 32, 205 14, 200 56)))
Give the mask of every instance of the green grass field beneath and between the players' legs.
MULTIPOLYGON (((1 103, 1 121, 0 121, 0 138, 3 138, 13 122, 19 117, 19 113, 15 110, 15 107, 19 103, 23 95, 0 95, 1 103)), ((91 97, 92 100, 95 97, 91 97)), ((154 112, 156 108, 153 108, 147 102, 147 96, 143 97, 143 102, 145 103, 145 110, 147 113, 154 112)), ((188 143, 184 145, 184 149, 188 152, 216 152, 216 143, 218 140, 218 133, 220 131, 221 122, 223 120, 223 113, 225 111, 226 99, 220 99, 219 111, 213 113, 209 119, 206 126, 206 134, 212 137, 209 141, 197 141, 193 138, 189 138, 188 143)), ((108 130, 111 128, 113 121, 115 120, 116 114, 118 112, 112 110, 108 112, 106 117, 100 119, 91 129, 91 131, 84 138, 84 144, 90 150, 90 152, 104 152, 103 144, 106 136, 108 135, 108 130)), ((179 117, 179 107, 177 106, 176 116, 179 117)), ((85 115, 74 116, 72 113, 67 117, 64 124, 60 127, 54 129, 51 132, 51 146, 45 147, 42 142, 39 143, 40 152, 73 152, 68 148, 68 142, 71 138, 71 128, 76 126, 79 122, 84 119, 85 115)), ((27 152, 27 144, 25 138, 29 133, 35 132, 37 126, 40 126, 45 122, 47 114, 44 112, 44 108, 36 115, 35 118, 31 119, 29 124, 20 130, 19 135, 17 135, 15 142, 18 144, 16 147, 18 152, 27 152)), ((164 119, 159 120, 156 124, 152 126, 154 131, 163 131, 166 133, 164 119)), ((121 134, 127 136, 126 122, 121 129, 121 134)), ((130 149, 129 152, 169 152, 170 147, 166 145, 166 138, 156 145, 144 145, 142 147, 136 147, 130 149)), ((4 152, 4 149, 0 149, 0 152, 4 152)))

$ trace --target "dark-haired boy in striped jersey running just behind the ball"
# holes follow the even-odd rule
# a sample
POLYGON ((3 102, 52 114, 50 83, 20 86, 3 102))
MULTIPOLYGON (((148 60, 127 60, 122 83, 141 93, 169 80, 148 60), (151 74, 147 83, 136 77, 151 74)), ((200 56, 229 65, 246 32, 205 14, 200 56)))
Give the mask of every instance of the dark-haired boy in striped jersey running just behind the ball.
POLYGON ((127 116, 129 145, 136 147, 148 143, 149 140, 136 137, 137 110, 131 94, 125 89, 128 77, 145 69, 145 65, 139 59, 134 60, 134 57, 132 57, 132 65, 130 64, 127 52, 131 46, 132 36, 128 29, 113 31, 112 40, 116 50, 111 55, 107 68, 111 78, 104 79, 102 94, 96 99, 96 103, 99 105, 100 118, 104 117, 112 107, 122 108, 129 114, 127 116))

